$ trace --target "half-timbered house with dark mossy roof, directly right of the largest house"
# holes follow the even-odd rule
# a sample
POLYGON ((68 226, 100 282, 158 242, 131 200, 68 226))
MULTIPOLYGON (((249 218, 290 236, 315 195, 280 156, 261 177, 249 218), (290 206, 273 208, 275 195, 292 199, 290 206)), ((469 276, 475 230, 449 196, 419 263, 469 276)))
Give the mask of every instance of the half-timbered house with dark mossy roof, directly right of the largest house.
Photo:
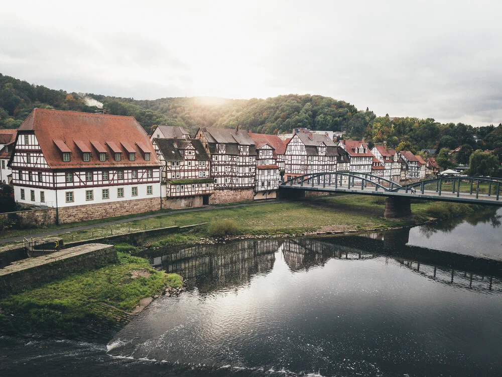
POLYGON ((151 139, 162 163, 163 208, 209 204, 214 180, 209 176, 209 156, 200 140, 190 139, 183 128, 172 126, 157 126, 151 139))

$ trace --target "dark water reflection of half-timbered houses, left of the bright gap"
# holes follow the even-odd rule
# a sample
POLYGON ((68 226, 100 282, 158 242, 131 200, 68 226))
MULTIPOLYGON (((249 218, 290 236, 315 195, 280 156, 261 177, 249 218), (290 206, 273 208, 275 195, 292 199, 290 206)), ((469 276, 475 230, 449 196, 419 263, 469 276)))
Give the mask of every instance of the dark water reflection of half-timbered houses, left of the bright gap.
POLYGON ((201 292, 241 285, 260 272, 272 270, 282 240, 244 240, 197 245, 152 259, 153 266, 176 272, 189 288, 201 292))

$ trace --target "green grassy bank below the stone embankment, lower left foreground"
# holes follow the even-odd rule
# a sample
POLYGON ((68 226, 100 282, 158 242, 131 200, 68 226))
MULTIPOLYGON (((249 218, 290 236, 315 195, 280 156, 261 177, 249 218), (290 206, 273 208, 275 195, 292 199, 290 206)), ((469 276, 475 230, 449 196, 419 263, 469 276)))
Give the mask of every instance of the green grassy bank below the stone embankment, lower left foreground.
POLYGON ((118 252, 118 263, 0 300, 0 332, 96 340, 108 337, 181 277, 118 252))

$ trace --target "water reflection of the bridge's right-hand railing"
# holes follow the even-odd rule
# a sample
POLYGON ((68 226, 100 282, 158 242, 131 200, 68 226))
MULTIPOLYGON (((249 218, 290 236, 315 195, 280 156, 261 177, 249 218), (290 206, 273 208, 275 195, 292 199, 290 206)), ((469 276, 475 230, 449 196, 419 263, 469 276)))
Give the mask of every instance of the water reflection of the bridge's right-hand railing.
POLYGON ((420 273, 422 276, 436 280, 441 284, 476 292, 493 291, 502 293, 502 279, 492 275, 477 274, 468 271, 455 271, 416 261, 395 258, 402 266, 420 273))

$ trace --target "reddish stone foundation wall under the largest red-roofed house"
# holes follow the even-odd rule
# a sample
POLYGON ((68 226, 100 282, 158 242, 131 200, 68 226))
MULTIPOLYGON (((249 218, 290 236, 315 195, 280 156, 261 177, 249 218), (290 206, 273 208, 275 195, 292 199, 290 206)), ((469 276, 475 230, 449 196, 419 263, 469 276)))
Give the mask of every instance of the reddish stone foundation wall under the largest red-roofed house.
POLYGON ((160 198, 145 198, 120 202, 96 203, 59 209, 59 223, 127 216, 143 212, 159 211, 160 198))

